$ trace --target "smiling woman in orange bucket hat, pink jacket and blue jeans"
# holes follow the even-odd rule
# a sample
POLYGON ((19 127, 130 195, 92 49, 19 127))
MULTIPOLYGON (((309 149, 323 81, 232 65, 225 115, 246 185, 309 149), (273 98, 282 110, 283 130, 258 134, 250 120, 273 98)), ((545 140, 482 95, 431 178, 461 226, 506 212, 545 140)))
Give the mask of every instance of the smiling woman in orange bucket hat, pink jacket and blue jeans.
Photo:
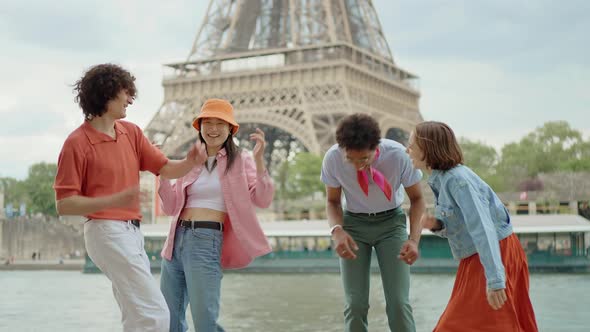
POLYGON ((247 266, 271 252, 255 208, 272 202, 274 186, 264 165, 264 132, 256 129, 253 154, 233 137, 240 125, 232 105, 205 101, 193 127, 206 163, 170 184, 160 179, 164 212, 172 217, 162 250, 160 288, 170 310, 170 331, 186 331, 191 305, 195 331, 223 331, 217 323, 222 269, 247 266))

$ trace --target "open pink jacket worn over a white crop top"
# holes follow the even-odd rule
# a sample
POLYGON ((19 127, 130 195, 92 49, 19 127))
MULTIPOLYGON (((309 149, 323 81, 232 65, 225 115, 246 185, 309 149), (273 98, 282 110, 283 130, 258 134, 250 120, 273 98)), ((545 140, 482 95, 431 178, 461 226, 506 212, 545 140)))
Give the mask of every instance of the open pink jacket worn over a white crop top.
MULTIPOLYGON (((227 209, 227 218, 223 224, 223 246, 221 248, 221 267, 239 269, 248 266, 254 258, 272 251, 264 235, 255 206, 266 208, 272 202, 274 185, 268 172, 256 175, 256 164, 250 153, 243 151, 234 160, 227 174, 227 156, 225 149, 217 153, 217 168, 223 199, 227 209), (250 199, 245 199, 249 197, 250 199)), ((184 177, 171 185, 167 179, 160 178, 158 194, 162 199, 162 210, 173 216, 168 237, 162 249, 162 258, 172 259, 176 224, 186 202, 186 187, 191 185, 201 174, 203 166, 193 168, 184 177)))

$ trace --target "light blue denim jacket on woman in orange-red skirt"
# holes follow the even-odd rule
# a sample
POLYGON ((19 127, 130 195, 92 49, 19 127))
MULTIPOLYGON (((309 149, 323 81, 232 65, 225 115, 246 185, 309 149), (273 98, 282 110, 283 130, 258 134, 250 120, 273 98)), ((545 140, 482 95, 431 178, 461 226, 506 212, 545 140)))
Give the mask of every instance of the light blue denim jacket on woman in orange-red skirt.
POLYGON ((433 170, 428 184, 435 197, 436 219, 455 259, 475 253, 483 265, 488 289, 506 288, 499 241, 512 234, 510 215, 494 191, 471 169, 457 165, 433 170))

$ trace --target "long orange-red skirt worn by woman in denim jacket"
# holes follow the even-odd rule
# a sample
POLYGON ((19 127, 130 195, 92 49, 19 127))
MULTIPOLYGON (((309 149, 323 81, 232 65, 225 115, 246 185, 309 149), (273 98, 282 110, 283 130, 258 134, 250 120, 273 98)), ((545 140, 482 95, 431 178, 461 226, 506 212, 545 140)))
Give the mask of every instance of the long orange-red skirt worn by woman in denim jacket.
POLYGON ((538 331, 529 298, 529 268, 516 234, 500 241, 500 251, 508 298, 502 308, 494 310, 488 304, 483 265, 478 254, 469 256, 459 263, 451 299, 435 332, 538 331))

